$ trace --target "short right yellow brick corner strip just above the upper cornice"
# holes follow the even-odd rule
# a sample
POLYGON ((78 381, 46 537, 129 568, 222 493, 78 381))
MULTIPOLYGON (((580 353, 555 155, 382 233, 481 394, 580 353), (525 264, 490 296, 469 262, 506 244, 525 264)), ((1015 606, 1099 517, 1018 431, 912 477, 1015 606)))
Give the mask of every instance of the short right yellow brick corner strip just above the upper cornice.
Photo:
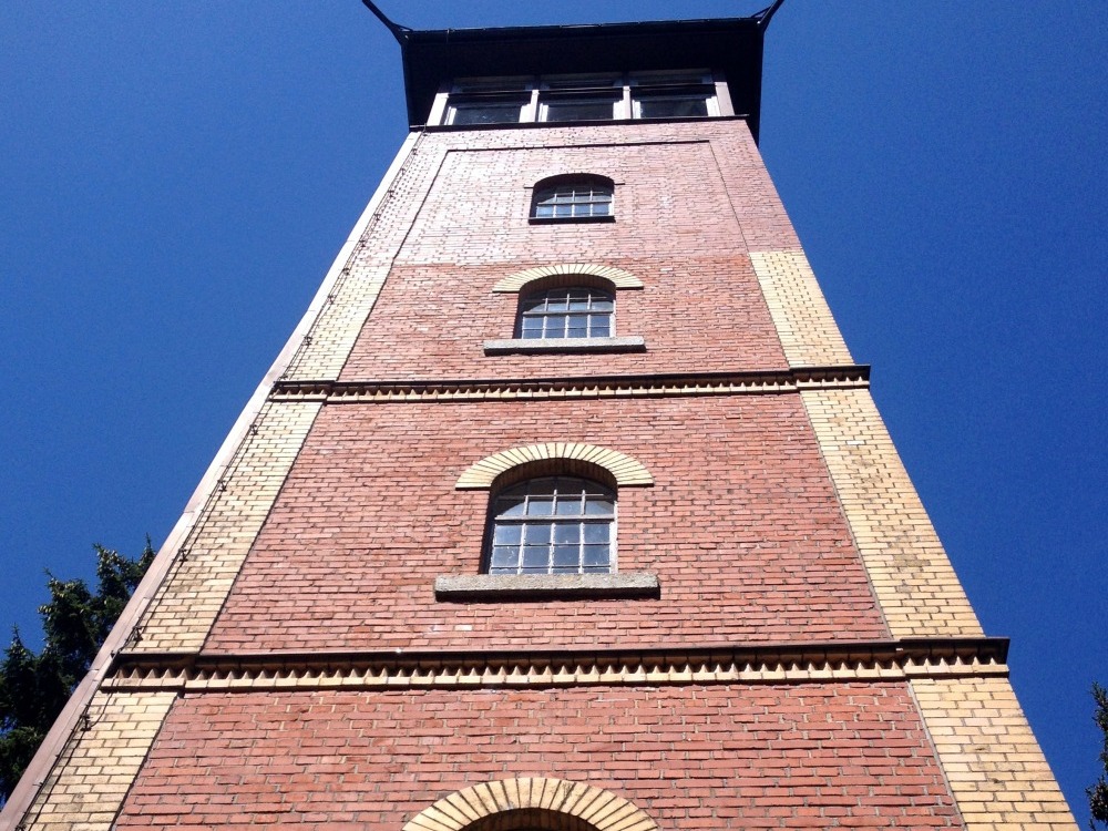
POLYGON ((790 367, 853 362, 802 250, 751 252, 750 261, 790 367))

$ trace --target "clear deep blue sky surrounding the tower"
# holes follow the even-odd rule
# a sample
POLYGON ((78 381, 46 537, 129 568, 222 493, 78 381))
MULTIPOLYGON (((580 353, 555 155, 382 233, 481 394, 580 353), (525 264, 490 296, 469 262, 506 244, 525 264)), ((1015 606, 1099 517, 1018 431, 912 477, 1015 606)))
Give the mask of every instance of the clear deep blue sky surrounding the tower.
MULTIPOLYGON (((768 2, 768 0, 767 0, 768 2)), ((745 0, 382 0, 414 28, 745 0)), ((1084 824, 1108 683, 1100 2, 787 0, 762 151, 1084 824)), ((358 0, 0 9, 0 622, 160 543, 406 132, 358 0)))

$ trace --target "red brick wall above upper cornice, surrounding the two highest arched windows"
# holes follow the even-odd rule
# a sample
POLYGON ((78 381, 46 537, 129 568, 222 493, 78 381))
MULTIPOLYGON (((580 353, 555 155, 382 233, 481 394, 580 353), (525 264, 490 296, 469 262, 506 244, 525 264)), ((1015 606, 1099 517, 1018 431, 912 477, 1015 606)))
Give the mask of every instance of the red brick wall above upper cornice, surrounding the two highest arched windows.
POLYGON ((447 148, 343 380, 786 366, 748 252, 797 243, 742 122, 437 133, 420 152, 447 148), (616 222, 530 225, 529 187, 572 172, 615 179, 616 222), (484 356, 515 319, 497 280, 582 261, 646 284, 616 307, 645 355, 484 356))

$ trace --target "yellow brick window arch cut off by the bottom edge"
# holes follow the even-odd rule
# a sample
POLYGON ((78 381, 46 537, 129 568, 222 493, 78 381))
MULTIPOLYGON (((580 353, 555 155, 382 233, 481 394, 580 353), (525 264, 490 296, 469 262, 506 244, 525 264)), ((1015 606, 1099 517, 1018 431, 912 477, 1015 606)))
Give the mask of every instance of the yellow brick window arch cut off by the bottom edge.
POLYGON ((612 791, 565 779, 501 779, 455 791, 416 814, 403 831, 656 831, 612 791))

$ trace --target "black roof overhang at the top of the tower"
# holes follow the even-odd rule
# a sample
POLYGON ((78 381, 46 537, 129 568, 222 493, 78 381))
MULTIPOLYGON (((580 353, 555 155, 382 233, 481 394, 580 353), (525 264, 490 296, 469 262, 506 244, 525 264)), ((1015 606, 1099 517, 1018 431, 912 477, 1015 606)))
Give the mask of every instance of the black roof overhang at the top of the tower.
POLYGON ((759 18, 504 29, 403 30, 410 124, 427 123, 439 86, 455 78, 711 69, 722 72, 738 115, 758 135, 759 18))

